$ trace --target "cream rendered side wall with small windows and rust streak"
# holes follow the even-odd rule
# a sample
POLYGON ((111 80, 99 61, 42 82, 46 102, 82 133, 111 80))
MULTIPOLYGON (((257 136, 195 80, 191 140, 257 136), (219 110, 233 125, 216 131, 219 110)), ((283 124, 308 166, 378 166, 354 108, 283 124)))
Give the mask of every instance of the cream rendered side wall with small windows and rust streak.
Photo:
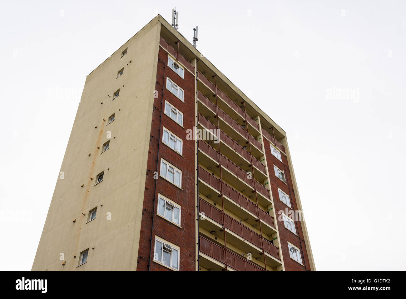
POLYGON ((56 182, 33 271, 136 270, 160 26, 155 17, 87 76, 60 168, 65 178, 56 182), (108 131, 110 148, 101 153, 108 131), (86 223, 96 206, 96 219, 86 223), (88 261, 77 267, 87 248, 88 261))

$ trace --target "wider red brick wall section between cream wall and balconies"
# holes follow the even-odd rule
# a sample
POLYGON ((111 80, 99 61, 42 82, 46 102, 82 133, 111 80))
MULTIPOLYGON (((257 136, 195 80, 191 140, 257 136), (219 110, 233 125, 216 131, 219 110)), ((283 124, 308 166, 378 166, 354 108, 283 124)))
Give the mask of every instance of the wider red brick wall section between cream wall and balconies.
MULTIPOLYGON (((159 48, 157 79, 158 82, 155 89, 158 91, 158 98, 154 100, 155 110, 152 116, 151 135, 159 139, 159 153, 158 153, 158 140, 152 138, 149 144, 147 169, 150 171, 145 180, 145 195, 143 208, 147 211, 144 212, 141 221, 140 232, 140 245, 138 249, 139 263, 137 271, 148 270, 150 238, 151 238, 151 224, 153 210, 153 197, 155 194, 155 215, 153 219, 153 240, 151 250, 151 271, 171 271, 168 268, 153 262, 153 252, 155 246, 155 235, 169 241, 180 247, 180 271, 195 271, 196 270, 196 236, 195 236, 195 141, 186 140, 186 130, 193 129, 195 123, 195 90, 194 82, 195 77, 188 72, 184 71, 185 80, 173 72, 168 67, 168 53, 159 48), (166 89, 166 77, 173 80, 179 87, 184 90, 184 102, 179 100, 168 89, 166 89), (163 94, 163 98, 162 98, 163 94), (167 100, 175 108, 177 108, 184 115, 183 128, 173 121, 170 117, 164 114, 164 106, 162 100, 167 100), (162 119, 160 117, 162 109, 162 119), (173 132, 177 137, 183 141, 183 156, 177 154, 170 147, 162 143, 162 127, 167 128, 173 132), (155 179, 153 172, 157 169, 157 161, 160 163, 161 157, 168 161, 175 167, 182 171, 182 189, 171 184, 165 179, 158 176, 156 192, 155 192, 155 179), (158 159, 158 160, 157 160, 158 159), (168 197, 173 202, 181 206, 181 228, 177 225, 156 215, 158 206, 158 193, 168 197)), ((136 83, 135 83, 136 84, 136 83)), ((158 174, 160 172, 160 165, 158 167, 158 174)))

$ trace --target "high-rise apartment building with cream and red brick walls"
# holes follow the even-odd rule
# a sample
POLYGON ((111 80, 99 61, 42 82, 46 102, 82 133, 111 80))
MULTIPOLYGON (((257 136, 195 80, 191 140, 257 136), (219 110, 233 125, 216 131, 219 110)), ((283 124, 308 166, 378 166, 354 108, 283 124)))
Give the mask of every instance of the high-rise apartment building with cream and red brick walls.
POLYGON ((160 15, 87 76, 60 171, 32 270, 315 270, 285 131, 160 15))

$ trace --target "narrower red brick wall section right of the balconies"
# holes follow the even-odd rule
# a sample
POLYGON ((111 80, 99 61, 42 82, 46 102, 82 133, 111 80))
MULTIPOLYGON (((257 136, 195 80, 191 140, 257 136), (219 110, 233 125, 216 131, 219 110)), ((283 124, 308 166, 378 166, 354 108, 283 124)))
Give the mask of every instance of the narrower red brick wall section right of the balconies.
MULTIPOLYGON (((310 271, 310 264, 309 264, 309 258, 307 256, 307 250, 306 246, 304 243, 304 238, 303 238, 303 232, 302 232, 302 223, 300 221, 296 221, 297 226, 298 226, 298 235, 296 236, 293 232, 285 228, 285 225, 283 223, 283 219, 281 217, 281 221, 279 220, 279 211, 282 210, 285 215, 289 215, 286 213, 286 208, 289 211, 292 210, 297 210, 298 206, 296 204, 296 197, 293 191, 293 186, 292 186, 292 178, 291 174, 289 171, 289 165, 287 162, 287 158, 284 154, 281 153, 282 156, 282 162, 278 160, 274 155, 271 154, 271 149, 270 149, 270 143, 266 139, 264 140, 264 148, 265 148, 265 153, 266 153, 266 158, 267 158, 267 163, 268 163, 268 170, 269 170, 269 177, 270 177, 270 187, 272 191, 272 196, 274 199, 274 209, 275 209, 275 214, 276 214, 276 221, 278 221, 278 230, 279 230, 279 238, 280 238, 280 244, 281 244, 281 251, 283 254, 283 262, 285 264, 285 271, 305 271, 304 265, 302 266, 289 256, 289 249, 287 246, 287 242, 289 241, 293 245, 295 245, 298 249, 300 249, 300 254, 302 258, 302 263, 303 263, 303 256, 304 256, 304 261, 306 263, 306 270, 310 271), (285 177, 287 178, 287 182, 289 182, 290 186, 290 193, 289 193, 289 187, 287 184, 283 183, 279 178, 275 176, 274 172, 274 165, 278 167, 279 169, 285 171, 285 177), (285 166, 284 166, 285 165, 285 166), (286 169, 285 169, 286 167, 286 169), (289 206, 285 205, 280 199, 279 199, 279 192, 278 192, 278 187, 285 192, 287 195, 289 195, 291 199, 291 203, 293 203, 292 208, 289 208, 289 206), (300 240, 299 240, 300 237, 300 240), (302 247, 300 247, 300 241, 302 243, 302 247)), ((304 264, 304 263, 303 263, 304 264)))

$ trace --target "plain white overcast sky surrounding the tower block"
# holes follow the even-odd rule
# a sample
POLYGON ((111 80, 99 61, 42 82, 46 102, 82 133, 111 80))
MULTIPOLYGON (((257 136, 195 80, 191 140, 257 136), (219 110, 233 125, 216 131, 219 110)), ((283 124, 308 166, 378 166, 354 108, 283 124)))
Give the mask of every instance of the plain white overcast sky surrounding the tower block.
POLYGON ((405 2, 218 0, 1 2, 0 270, 31 269, 86 76, 175 5, 287 132, 317 270, 406 270, 405 2))

